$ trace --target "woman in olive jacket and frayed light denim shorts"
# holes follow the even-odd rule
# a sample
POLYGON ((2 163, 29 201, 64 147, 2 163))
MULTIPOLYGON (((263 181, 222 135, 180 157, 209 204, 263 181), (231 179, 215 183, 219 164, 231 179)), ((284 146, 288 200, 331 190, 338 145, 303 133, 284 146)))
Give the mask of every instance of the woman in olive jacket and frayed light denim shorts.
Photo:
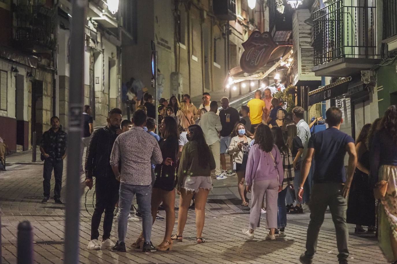
POLYGON ((189 142, 183 147, 178 169, 177 190, 180 194, 178 231, 177 234, 172 237, 172 240, 178 242, 183 241, 183 230, 185 229, 187 221, 187 211, 194 195, 196 240, 198 244, 201 244, 205 242, 202 238, 205 220, 205 205, 208 194, 212 189, 211 170, 215 169, 215 160, 199 125, 189 126, 187 139, 189 142))

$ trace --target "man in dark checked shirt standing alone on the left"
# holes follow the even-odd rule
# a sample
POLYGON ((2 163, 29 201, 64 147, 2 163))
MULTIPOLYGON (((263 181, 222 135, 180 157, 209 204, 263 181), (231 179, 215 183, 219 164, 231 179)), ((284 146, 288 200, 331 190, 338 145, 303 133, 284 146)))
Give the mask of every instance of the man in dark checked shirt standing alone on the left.
POLYGON ((66 157, 66 141, 67 134, 59 128, 59 118, 53 116, 51 118, 51 128, 44 132, 40 144, 41 159, 44 160, 44 198, 41 201, 42 203, 47 203, 48 199, 50 199, 50 180, 52 170, 54 169, 54 200, 55 203, 62 204, 60 197, 62 189, 62 171, 64 169, 64 159, 66 157))

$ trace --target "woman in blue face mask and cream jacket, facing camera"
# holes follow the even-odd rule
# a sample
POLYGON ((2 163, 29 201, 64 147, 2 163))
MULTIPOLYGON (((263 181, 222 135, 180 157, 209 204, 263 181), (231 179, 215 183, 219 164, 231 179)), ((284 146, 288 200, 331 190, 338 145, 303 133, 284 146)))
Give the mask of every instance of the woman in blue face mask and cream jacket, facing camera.
POLYGON ((233 138, 230 141, 228 152, 230 155, 233 155, 233 163, 236 165, 237 188, 239 189, 241 197, 241 205, 248 206, 247 190, 245 190, 244 187, 244 180, 245 167, 248 160, 248 146, 251 143, 251 133, 245 130, 245 125, 238 123, 230 136, 233 138))

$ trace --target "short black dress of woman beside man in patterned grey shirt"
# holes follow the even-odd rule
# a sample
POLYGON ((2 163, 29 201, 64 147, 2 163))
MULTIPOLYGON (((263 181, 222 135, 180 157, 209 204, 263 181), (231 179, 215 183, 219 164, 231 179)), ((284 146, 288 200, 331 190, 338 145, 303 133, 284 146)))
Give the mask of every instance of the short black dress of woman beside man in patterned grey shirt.
POLYGON ((154 182, 153 188, 172 191, 178 182, 178 168, 175 162, 178 149, 178 139, 176 137, 169 137, 167 140, 160 139, 158 144, 160 145, 163 160, 166 160, 166 158, 171 158, 172 165, 156 165, 156 168, 154 169, 156 181, 154 182))

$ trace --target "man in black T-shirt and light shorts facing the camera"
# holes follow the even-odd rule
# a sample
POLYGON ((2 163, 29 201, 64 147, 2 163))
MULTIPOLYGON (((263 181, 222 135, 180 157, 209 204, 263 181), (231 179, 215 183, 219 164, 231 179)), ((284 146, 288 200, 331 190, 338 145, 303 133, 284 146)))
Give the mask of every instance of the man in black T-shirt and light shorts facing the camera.
MULTIPOLYGON (((233 175, 233 170, 227 171, 226 168, 226 150, 229 148, 231 141, 231 131, 233 131, 234 126, 240 121, 239 111, 229 106, 229 99, 227 97, 223 97, 221 99, 222 110, 219 112, 219 117, 221 119, 222 130, 220 131, 220 154, 221 154, 221 173, 226 176, 233 175)), ((233 164, 231 162, 231 164, 233 164)))

